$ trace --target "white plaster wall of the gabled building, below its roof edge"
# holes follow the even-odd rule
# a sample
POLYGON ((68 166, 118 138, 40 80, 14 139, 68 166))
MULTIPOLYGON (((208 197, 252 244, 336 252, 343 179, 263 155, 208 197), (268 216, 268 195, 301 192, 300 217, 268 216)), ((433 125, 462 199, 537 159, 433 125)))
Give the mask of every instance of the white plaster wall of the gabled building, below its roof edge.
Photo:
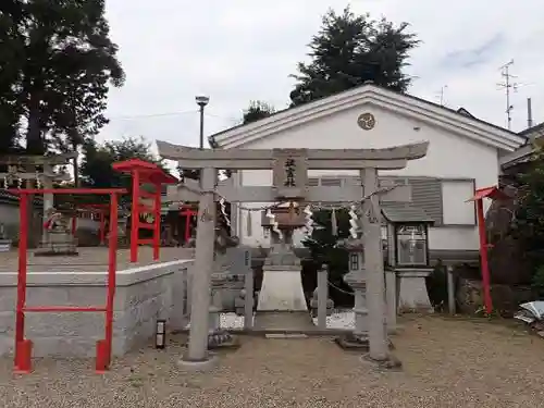
MULTIPOLYGON (((472 141, 463 136, 448 133, 442 128, 430 126, 418 120, 392 114, 382 108, 364 106, 320 119, 311 124, 298 126, 257 140, 245 148, 312 148, 312 149, 348 149, 348 148, 386 148, 416 141, 429 140, 425 158, 410 161, 406 169, 383 172, 381 175, 432 176, 441 178, 474 178, 475 188, 496 185, 498 182, 498 152, 495 148, 472 141), (371 112, 376 125, 371 131, 363 131, 357 125, 357 118, 362 112, 371 112)), ((242 172, 243 185, 271 185, 271 171, 242 172)), ((310 176, 319 175, 356 175, 353 171, 310 171, 310 176)), ((461 188, 461 187, 459 187, 461 188)), ((462 193, 462 191, 461 191, 462 193)), ((465 203, 470 196, 460 196, 453 189, 444 194, 447 201, 444 217, 455 219, 450 214, 453 208, 472 206, 465 203), (447 213, 446 213, 447 211, 447 213)), ((251 205, 247 203, 246 206, 251 205)), ((254 203, 261 207, 264 203, 254 203)), ((489 206, 489 202, 486 203, 489 206)), ((242 214, 242 236, 246 245, 267 244, 260 227, 260 215, 254 213, 252 234, 244 236, 245 219, 242 214)), ((472 226, 433 227, 430 230, 431 249, 478 249, 478 232, 472 226)))

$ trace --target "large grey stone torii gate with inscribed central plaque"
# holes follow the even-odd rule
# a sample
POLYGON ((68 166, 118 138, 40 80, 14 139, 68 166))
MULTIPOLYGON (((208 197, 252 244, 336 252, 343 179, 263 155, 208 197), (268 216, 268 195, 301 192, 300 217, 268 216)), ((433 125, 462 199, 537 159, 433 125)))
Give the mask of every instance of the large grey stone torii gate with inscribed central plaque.
MULTIPOLYGON (((367 271, 367 304, 369 310, 369 357, 376 361, 388 359, 386 331, 385 282, 382 256, 380 199, 405 201, 410 195, 403 186, 380 190, 379 170, 399 170, 409 160, 423 158, 429 143, 386 149, 227 149, 210 150, 157 141, 160 156, 176 160, 184 169, 198 169, 200 188, 191 287, 191 312, 188 351, 182 363, 210 363, 208 356, 208 310, 210 281, 213 270, 215 196, 230 202, 360 202, 364 201, 363 245, 367 271), (273 186, 237 187, 217 183, 218 170, 273 170, 273 186), (358 170, 361 186, 308 186, 308 170, 358 170)), ((408 198, 409 200, 409 198, 408 198)), ((362 276, 361 276, 362 279, 362 276)))

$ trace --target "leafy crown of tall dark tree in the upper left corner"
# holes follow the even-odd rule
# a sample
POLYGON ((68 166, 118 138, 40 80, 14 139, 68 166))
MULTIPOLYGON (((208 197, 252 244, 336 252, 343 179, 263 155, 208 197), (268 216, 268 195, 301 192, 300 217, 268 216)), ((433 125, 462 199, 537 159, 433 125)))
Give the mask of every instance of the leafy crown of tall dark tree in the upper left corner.
POLYGON ((7 39, 0 41, 0 125, 20 131, 25 123, 26 150, 37 154, 49 136, 66 150, 96 135, 107 123, 108 85, 124 81, 104 1, 5 0, 0 28, 7 39), (10 104, 17 107, 11 115, 10 104))

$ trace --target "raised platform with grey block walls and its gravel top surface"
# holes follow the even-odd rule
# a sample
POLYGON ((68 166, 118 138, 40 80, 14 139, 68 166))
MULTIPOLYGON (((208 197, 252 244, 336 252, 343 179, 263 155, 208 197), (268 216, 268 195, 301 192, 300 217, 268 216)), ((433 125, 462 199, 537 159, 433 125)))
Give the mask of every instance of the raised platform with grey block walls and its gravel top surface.
MULTIPOLYGON (((104 306, 107 248, 79 248, 79 257, 28 257, 26 305, 104 306)), ((113 302, 113 354, 122 356, 147 343, 157 319, 168 330, 186 324, 184 301, 190 259, 182 248, 162 248, 152 260, 151 248, 140 248, 139 262, 128 262, 128 250, 118 257, 113 302)), ((13 353, 17 284, 17 252, 0 254, 0 355, 13 353)), ((34 342, 33 357, 92 357, 104 337, 103 312, 28 312, 25 336, 34 342)))

